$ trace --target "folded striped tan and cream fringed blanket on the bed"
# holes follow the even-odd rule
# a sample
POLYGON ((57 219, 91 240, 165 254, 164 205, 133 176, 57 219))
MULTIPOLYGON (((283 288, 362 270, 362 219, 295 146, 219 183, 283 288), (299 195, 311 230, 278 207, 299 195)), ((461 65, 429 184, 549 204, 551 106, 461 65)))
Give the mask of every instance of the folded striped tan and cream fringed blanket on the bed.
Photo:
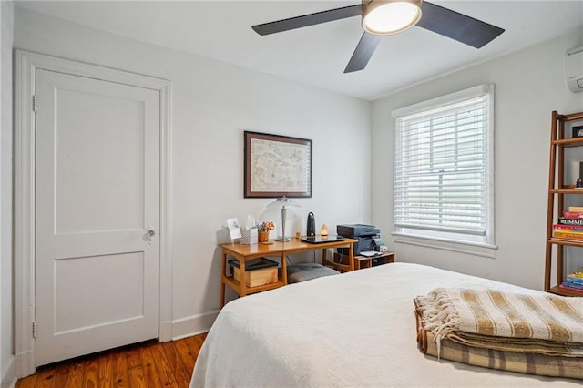
POLYGON ((514 372, 583 378, 583 298, 435 289, 414 300, 422 352, 514 372))

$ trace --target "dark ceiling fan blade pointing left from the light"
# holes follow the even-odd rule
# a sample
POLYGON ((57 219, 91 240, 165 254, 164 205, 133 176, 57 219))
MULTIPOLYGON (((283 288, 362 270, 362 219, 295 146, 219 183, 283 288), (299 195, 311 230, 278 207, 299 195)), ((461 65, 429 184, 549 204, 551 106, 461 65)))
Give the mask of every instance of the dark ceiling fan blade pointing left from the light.
POLYGON ((342 8, 329 9, 328 11, 317 12, 310 15, 290 17, 289 19, 278 20, 276 22, 264 23, 262 25, 251 26, 255 32, 261 36, 288 31, 295 28, 319 25, 332 22, 334 20, 345 19, 347 17, 359 16, 363 13, 363 5, 349 5, 342 8))

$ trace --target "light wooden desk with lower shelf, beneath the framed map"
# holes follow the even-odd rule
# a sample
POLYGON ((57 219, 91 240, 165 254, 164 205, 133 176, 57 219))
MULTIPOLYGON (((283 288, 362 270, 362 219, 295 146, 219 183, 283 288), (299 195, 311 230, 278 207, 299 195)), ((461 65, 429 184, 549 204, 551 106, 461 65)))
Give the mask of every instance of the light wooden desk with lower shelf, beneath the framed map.
MULTIPOLYGON (((271 241, 270 241, 271 242, 271 241)), ((220 307, 225 305, 225 286, 228 285, 236 291, 239 296, 249 295, 254 292, 267 291, 284 286, 288 283, 287 273, 287 255, 302 253, 311 250, 322 250, 322 263, 330 262, 326 259, 326 250, 329 248, 349 248, 350 251, 350 271, 354 270, 353 263, 353 243, 357 240, 345 239, 343 241, 323 242, 311 244, 301 240, 292 240, 289 242, 272 241, 272 244, 252 244, 244 245, 240 243, 220 244, 222 248, 222 266, 220 281, 220 307), (232 276, 227 275, 227 256, 232 256, 239 260, 240 281, 236 281, 232 276), (257 287, 248 287, 245 282, 245 261, 261 257, 278 257, 281 258, 281 277, 278 281, 257 287)), ((324 264, 325 265, 325 264, 324 264)))

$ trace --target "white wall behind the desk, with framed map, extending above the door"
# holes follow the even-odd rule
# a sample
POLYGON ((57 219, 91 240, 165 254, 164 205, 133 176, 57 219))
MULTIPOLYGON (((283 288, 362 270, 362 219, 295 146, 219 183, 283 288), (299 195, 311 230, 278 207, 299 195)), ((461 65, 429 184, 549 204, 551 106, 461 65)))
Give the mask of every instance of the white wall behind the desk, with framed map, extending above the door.
POLYGON ((172 81, 174 336, 208 329, 219 308, 225 220, 259 217, 272 200, 243 199, 243 130, 313 140, 313 197, 297 199, 291 231, 305 232, 309 211, 332 229, 370 221, 370 103, 18 6, 14 39, 16 48, 172 81))

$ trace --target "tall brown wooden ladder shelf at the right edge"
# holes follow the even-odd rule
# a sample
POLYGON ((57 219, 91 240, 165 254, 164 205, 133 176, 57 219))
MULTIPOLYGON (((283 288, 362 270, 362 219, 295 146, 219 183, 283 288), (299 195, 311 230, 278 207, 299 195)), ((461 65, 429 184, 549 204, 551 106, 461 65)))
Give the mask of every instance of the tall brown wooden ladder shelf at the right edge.
MULTIPOLYGON (((545 255, 545 291, 563 296, 583 296, 583 291, 572 291, 558 287, 565 278, 565 250, 567 247, 583 248, 583 240, 564 240, 553 237, 553 223, 565 209, 565 196, 583 195, 583 190, 572 189, 565 184, 565 148, 583 147, 583 138, 572 138, 566 130, 581 121, 583 112, 569 115, 552 112, 550 137, 550 158, 548 168, 548 208, 547 208, 547 251, 545 255), (556 214, 557 213, 557 214, 556 214), (557 247, 553 257, 553 247, 557 247), (553 281, 553 260, 557 260, 557 277, 553 281)), ((574 183, 574 182, 573 182, 574 183)), ((583 197, 582 197, 583 198, 583 197)))

